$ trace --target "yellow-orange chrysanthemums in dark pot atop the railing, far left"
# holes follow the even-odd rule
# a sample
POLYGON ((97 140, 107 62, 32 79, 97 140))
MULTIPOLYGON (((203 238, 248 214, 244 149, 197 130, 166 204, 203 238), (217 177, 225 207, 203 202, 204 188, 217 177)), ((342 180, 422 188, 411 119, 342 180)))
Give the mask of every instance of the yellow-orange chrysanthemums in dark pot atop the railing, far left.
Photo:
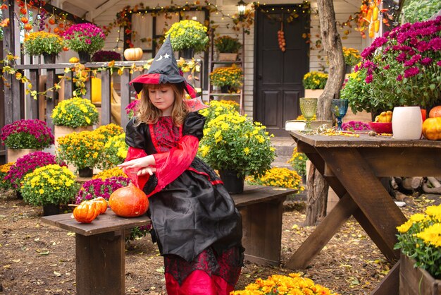
POLYGON ((51 32, 30 32, 25 34, 23 49, 31 56, 44 56, 46 64, 55 64, 55 58, 63 51, 64 40, 51 32))

